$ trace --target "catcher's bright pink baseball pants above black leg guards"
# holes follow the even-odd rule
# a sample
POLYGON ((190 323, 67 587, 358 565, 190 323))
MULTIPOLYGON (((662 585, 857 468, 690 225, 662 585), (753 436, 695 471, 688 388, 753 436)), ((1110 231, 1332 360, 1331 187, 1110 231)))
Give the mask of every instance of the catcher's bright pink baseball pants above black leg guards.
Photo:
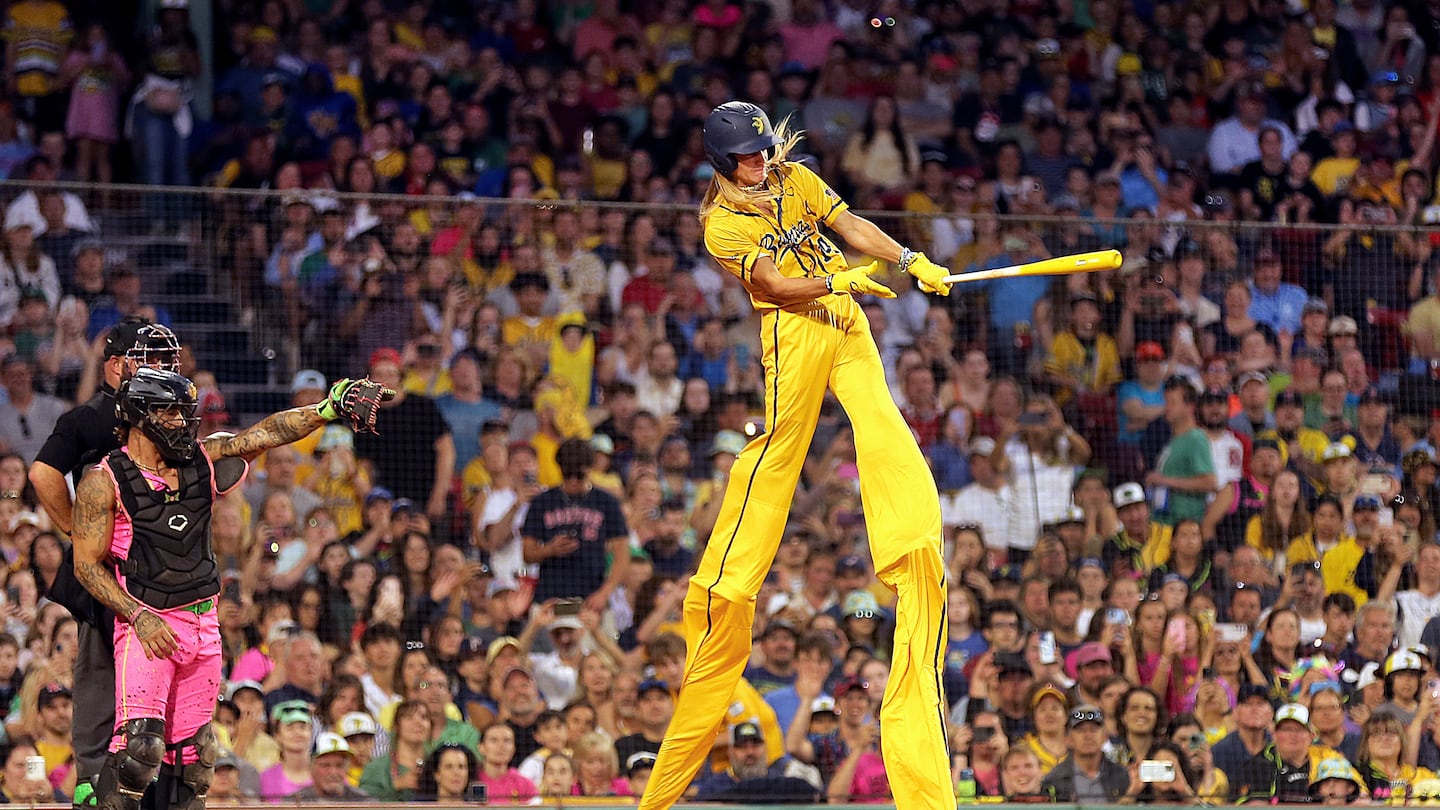
MULTIPOLYGON (((222 682, 220 621, 213 604, 199 615, 184 608, 156 614, 174 631, 180 649, 168 659, 147 659, 134 628, 115 623, 115 722, 161 718, 166 742, 176 744, 194 735, 215 713, 222 682)), ((124 745, 125 739, 115 735, 109 749, 124 745)), ((187 751, 186 760, 192 758, 187 751)))

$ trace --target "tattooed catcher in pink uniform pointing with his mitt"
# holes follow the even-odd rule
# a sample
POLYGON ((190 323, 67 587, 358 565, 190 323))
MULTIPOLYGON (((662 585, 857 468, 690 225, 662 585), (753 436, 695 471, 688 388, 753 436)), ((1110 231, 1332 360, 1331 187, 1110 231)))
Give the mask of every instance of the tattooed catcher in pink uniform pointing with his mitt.
POLYGON ((72 535, 76 579, 115 611, 117 722, 95 788, 99 807, 138 809, 161 765, 174 785, 163 804, 204 807, 222 662, 215 499, 239 486, 251 458, 325 422, 344 417, 356 431, 373 431, 380 402, 392 396, 372 380, 343 379, 318 405, 202 441, 189 379, 143 368, 121 383, 121 447, 81 480, 72 535))

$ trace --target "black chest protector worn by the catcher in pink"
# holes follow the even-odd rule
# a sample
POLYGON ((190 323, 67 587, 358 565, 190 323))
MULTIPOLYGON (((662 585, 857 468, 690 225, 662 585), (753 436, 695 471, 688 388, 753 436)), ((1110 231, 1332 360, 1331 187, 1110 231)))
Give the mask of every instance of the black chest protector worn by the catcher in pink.
POLYGON ((220 577, 210 549, 215 494, 206 460, 196 455, 179 467, 176 490, 151 489, 140 467, 118 450, 105 463, 120 484, 120 502, 135 535, 130 558, 120 561, 130 595, 168 610, 219 594, 220 577))

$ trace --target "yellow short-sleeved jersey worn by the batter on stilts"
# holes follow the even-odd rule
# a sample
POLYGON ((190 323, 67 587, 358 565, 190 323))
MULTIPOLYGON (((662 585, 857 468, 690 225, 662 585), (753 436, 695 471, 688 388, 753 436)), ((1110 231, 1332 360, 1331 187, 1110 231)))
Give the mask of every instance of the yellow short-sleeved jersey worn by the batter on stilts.
POLYGON ((845 257, 818 223, 834 225, 850 205, 799 163, 780 164, 779 174, 773 212, 721 205, 706 223, 706 249, 744 284, 756 310, 776 308, 757 298, 750 284, 760 257, 770 257, 786 278, 818 278, 845 270, 845 257))

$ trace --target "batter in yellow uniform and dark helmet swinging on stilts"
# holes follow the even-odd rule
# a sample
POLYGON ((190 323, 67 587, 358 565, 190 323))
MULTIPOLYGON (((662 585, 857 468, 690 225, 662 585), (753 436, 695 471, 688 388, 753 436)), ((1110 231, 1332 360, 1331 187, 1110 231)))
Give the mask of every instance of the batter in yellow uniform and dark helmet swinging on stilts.
POLYGON ((765 112, 727 102, 710 112, 716 174, 700 206, 706 249, 740 278, 760 313, 765 435, 730 470, 720 516, 684 602, 688 654, 674 719, 641 810, 674 804, 704 762, 750 656, 755 600, 789 516, 825 389, 850 415, 876 575, 899 600, 894 657, 880 708, 881 755, 899 810, 953 810, 940 667, 946 582, 935 479, 886 386, 857 295, 896 294, 847 268, 821 226, 854 249, 897 262, 945 295, 946 271, 850 212, 809 169, 788 161, 799 140, 765 112))

